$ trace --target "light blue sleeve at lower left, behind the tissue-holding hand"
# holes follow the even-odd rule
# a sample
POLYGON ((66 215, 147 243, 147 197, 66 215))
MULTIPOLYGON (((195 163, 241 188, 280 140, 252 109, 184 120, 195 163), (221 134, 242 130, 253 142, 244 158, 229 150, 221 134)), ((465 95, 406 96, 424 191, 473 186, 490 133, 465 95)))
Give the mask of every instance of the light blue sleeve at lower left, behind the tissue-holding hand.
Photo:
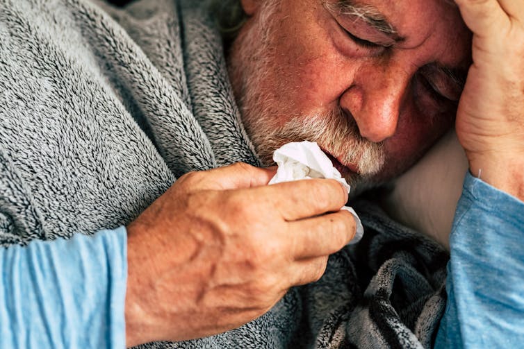
POLYGON ((0 248, 0 348, 125 348, 126 229, 0 248))

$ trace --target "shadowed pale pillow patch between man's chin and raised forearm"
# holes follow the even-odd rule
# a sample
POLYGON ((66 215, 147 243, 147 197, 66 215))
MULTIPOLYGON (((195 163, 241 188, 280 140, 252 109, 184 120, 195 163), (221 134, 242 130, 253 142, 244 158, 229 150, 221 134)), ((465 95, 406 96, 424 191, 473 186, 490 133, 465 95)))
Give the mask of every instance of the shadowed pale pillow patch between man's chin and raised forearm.
POLYGON ((451 225, 466 171, 466 155, 452 130, 395 180, 384 208, 393 219, 433 237, 449 250, 451 225))

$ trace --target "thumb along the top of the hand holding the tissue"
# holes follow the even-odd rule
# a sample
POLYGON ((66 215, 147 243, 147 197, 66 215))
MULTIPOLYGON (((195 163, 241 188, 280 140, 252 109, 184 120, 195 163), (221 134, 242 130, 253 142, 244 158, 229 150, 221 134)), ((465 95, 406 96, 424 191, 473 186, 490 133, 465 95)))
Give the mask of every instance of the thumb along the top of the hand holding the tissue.
POLYGON ((244 189, 267 185, 277 173, 276 167, 262 169, 238 162, 218 169, 199 172, 197 180, 206 189, 244 189), (204 176, 202 176, 204 175, 204 176))

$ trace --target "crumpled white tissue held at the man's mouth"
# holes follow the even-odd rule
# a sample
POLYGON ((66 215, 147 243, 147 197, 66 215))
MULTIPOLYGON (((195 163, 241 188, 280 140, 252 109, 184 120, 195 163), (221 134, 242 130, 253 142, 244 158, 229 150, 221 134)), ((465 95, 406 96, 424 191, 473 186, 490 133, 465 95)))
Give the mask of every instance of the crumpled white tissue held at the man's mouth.
MULTIPOLYGON (((270 185, 292 180, 328 178, 340 182, 347 193, 350 193, 350 185, 347 184, 341 173, 333 167, 331 160, 327 158, 327 155, 316 142, 304 141, 285 144, 275 151, 273 160, 277 162, 279 167, 275 177, 270 180, 270 185)), ((357 244, 364 234, 359 216, 351 207, 344 206, 342 210, 349 211, 354 216, 355 223, 357 223, 357 232, 348 245, 357 244)))

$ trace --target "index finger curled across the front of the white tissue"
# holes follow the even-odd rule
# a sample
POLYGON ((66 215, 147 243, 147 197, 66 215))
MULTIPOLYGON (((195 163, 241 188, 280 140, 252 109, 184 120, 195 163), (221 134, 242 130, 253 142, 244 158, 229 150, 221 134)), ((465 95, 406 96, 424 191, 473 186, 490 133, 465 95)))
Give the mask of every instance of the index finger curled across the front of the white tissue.
POLYGON ((257 190, 286 221, 338 211, 347 202, 347 191, 336 180, 296 180, 257 190))

